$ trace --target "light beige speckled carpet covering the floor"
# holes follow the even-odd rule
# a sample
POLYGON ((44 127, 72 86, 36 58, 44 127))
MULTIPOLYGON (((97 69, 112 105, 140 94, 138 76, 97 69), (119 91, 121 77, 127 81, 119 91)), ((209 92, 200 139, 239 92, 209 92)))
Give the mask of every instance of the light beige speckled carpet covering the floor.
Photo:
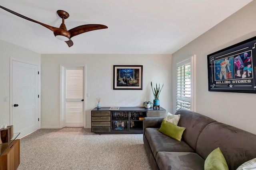
POLYGON ((151 170, 142 134, 39 129, 20 139, 18 170, 151 170))

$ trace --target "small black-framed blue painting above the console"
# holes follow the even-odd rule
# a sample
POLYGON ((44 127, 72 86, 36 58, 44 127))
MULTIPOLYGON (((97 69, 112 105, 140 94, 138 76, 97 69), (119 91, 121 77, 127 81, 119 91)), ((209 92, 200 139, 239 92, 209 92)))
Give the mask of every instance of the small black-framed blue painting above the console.
POLYGON ((142 90, 143 66, 114 65, 114 90, 142 90))

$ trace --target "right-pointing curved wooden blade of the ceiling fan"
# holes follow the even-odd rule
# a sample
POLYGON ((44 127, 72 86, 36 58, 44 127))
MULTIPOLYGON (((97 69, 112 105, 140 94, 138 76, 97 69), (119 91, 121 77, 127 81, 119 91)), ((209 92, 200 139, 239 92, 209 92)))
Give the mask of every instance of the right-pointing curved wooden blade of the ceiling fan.
POLYGON ((93 31, 97 29, 105 29, 105 28, 108 28, 108 27, 106 25, 101 25, 101 24, 87 24, 87 25, 80 25, 78 27, 74 27, 68 31, 71 33, 71 37, 74 37, 81 33, 93 31))

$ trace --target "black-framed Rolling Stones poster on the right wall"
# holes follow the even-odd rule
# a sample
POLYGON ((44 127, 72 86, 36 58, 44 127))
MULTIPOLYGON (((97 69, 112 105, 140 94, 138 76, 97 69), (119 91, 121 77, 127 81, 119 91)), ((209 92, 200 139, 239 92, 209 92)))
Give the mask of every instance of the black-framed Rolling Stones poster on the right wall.
POLYGON ((256 93, 256 37, 210 55, 208 90, 256 93))

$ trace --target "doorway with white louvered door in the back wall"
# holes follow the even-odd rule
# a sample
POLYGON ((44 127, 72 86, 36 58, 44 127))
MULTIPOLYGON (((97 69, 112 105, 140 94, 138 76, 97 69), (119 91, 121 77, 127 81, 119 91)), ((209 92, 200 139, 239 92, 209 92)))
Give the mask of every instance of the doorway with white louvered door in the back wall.
POLYGON ((84 65, 61 65, 61 128, 85 127, 84 75, 84 65))

